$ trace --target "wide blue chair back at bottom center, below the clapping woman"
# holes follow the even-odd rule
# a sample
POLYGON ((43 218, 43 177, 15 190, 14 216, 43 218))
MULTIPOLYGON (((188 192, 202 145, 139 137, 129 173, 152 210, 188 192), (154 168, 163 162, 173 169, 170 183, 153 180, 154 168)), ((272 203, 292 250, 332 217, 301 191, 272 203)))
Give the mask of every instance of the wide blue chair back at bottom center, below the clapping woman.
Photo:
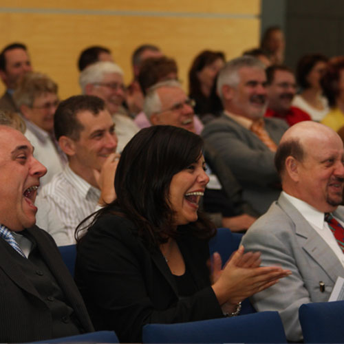
POLYGON ((278 312, 190 323, 149 324, 142 343, 287 343, 278 312))

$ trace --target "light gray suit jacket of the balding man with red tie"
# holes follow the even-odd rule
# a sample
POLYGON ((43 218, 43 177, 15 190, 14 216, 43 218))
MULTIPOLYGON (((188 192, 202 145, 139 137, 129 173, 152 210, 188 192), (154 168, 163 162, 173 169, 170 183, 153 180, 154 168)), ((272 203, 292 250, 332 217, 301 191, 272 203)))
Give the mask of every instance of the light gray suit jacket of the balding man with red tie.
MULTIPOLYGON (((334 215, 344 220, 344 207, 339 206, 334 215)), ((255 294, 252 302, 258 311, 279 311, 288 340, 301 341, 300 305, 329 299, 337 277, 344 277, 341 262, 283 194, 249 228, 242 244, 246 250, 261 251, 264 266, 292 271, 275 286, 255 294), (324 291, 320 281, 325 283, 324 291)))

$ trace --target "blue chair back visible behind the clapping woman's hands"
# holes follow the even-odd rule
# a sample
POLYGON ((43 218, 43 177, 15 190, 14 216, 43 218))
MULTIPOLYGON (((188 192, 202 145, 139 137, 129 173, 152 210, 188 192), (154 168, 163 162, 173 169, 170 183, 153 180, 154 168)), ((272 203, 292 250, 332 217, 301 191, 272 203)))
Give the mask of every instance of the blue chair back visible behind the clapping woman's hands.
MULTIPOLYGON (((209 241, 209 252, 211 256, 214 252, 219 252, 222 259, 222 266, 226 264, 232 253, 239 248, 242 238, 241 233, 232 233, 228 228, 217 228, 217 234, 209 241)), ((257 312, 253 308, 249 299, 244 299, 241 304, 240 314, 250 314, 257 312)))

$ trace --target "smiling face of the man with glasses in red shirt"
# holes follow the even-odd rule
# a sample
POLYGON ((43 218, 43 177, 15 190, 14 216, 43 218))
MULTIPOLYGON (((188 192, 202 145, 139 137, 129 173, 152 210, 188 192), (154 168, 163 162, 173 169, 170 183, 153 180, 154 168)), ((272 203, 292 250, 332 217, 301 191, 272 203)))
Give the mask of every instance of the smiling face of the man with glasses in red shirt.
POLYGON ((297 83, 291 72, 276 70, 272 83, 268 85, 268 107, 281 114, 286 113, 292 106, 297 83))

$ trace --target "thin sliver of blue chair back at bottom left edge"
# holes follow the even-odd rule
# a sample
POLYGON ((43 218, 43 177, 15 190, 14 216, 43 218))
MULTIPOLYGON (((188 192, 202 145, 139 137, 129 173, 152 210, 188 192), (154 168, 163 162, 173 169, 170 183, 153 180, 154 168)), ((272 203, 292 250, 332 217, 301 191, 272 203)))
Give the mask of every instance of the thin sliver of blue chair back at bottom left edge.
MULTIPOLYGON (((41 343, 120 343, 114 331, 97 331, 78 336, 70 336, 63 338, 47 339, 45 341, 34 342, 41 343)), ((31 344, 34 344, 31 343, 31 344)))

